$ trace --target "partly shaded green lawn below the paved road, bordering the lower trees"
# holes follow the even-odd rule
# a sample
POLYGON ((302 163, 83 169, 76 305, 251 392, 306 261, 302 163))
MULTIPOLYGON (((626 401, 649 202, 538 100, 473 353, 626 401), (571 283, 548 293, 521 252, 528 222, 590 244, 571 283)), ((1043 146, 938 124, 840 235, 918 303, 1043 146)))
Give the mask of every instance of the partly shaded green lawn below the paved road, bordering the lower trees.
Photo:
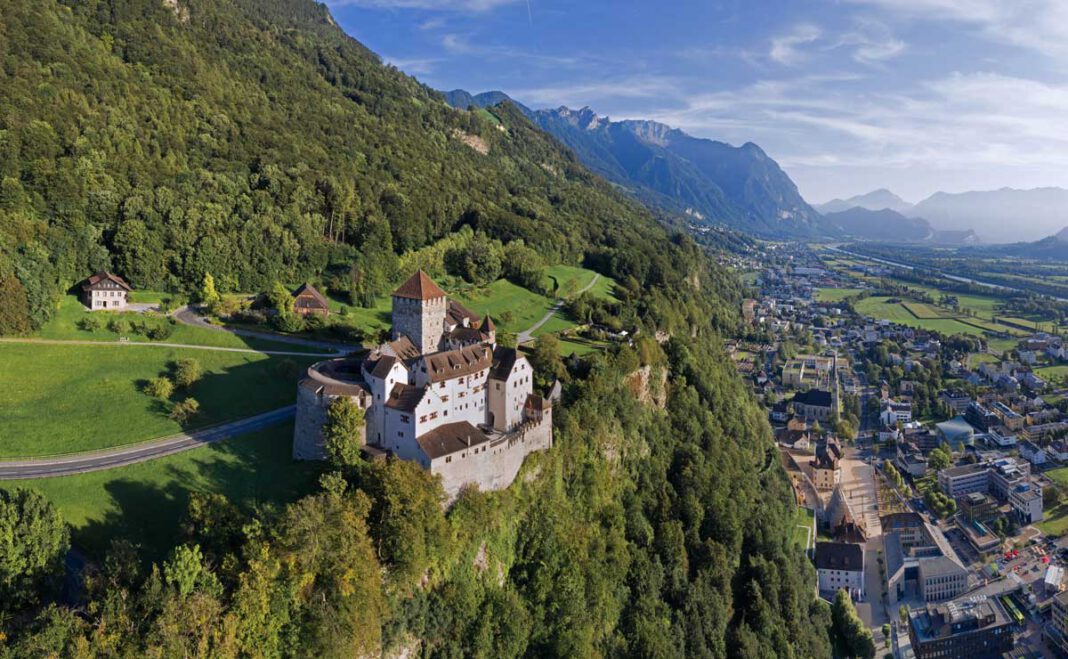
POLYGON ((220 492, 251 509, 284 504, 315 489, 319 465, 290 459, 293 424, 107 471, 2 481, 40 490, 70 523, 75 543, 99 559, 113 537, 140 543, 158 561, 180 539, 189 493, 220 492))

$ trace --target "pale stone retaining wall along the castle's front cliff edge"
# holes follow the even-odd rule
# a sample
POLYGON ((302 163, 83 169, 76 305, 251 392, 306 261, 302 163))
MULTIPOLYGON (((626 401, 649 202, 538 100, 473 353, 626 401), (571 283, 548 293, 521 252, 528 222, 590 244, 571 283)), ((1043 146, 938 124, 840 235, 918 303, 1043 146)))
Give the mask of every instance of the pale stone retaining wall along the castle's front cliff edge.
POLYGON ((504 489, 512 485, 523 459, 535 451, 552 448, 552 410, 540 421, 528 421, 515 432, 489 442, 485 452, 453 455, 451 462, 438 458, 430 473, 441 476, 449 500, 456 499, 465 485, 475 484, 482 490, 504 489))

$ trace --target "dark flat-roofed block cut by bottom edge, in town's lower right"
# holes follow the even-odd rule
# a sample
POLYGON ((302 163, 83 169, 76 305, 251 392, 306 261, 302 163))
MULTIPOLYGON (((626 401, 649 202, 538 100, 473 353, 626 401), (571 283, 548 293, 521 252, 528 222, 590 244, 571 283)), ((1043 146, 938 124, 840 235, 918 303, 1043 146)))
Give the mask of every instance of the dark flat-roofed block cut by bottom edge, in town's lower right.
POLYGON ((1015 644, 1005 609, 984 595, 910 611, 909 640, 916 659, 1000 659, 1015 644))

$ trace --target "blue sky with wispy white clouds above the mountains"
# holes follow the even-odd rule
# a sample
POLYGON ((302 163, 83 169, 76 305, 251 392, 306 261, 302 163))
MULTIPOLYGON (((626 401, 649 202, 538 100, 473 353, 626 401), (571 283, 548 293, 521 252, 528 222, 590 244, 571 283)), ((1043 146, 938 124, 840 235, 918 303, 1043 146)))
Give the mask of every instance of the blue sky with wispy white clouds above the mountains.
POLYGON ((1066 0, 328 0, 441 90, 753 141, 818 203, 1068 187, 1066 0))

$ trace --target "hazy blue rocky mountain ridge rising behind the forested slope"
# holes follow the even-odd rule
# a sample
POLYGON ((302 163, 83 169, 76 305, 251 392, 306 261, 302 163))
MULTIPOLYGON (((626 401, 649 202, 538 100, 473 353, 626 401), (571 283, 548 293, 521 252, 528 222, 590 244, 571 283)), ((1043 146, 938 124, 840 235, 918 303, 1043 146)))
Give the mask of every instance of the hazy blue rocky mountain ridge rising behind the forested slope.
MULTIPOLYGON (((444 96, 458 108, 512 100, 503 92, 454 90, 444 96)), ((584 164, 648 204, 685 213, 695 223, 761 235, 820 231, 819 214, 779 163, 752 142, 733 146, 653 121, 613 122, 590 108, 516 106, 584 164)))

